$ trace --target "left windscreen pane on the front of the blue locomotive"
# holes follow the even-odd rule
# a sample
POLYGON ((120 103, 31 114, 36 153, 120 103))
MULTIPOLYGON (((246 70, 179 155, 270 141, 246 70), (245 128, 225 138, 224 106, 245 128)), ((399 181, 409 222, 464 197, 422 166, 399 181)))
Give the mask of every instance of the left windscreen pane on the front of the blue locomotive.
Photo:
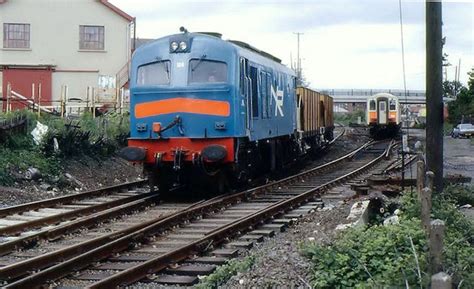
POLYGON ((170 84, 169 60, 158 61, 138 67, 137 85, 168 85, 170 84))

